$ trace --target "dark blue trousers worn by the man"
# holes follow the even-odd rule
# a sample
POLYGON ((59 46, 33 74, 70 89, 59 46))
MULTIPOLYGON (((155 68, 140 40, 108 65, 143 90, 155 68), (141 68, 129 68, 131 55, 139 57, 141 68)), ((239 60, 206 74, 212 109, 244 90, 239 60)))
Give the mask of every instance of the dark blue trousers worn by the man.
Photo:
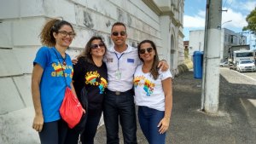
POLYGON ((107 131, 107 144, 119 144, 119 123, 122 127, 124 143, 137 144, 137 124, 132 89, 121 93, 107 90, 103 115, 107 131))

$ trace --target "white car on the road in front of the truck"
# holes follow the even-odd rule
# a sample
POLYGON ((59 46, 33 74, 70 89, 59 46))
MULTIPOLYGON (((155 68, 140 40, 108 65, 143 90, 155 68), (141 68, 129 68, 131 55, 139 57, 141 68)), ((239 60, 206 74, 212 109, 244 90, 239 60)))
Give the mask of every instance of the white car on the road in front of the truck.
POLYGON ((238 72, 256 72, 253 60, 240 60, 237 63, 236 70, 238 72))

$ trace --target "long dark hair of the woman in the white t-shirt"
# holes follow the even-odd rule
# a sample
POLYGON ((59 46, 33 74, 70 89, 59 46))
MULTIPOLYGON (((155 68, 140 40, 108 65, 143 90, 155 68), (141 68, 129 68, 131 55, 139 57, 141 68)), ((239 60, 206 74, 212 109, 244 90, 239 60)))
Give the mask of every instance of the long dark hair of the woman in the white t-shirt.
MULTIPOLYGON (((137 55, 140 55, 139 51, 140 51, 141 46, 142 46, 143 43, 150 43, 152 48, 154 49, 154 52, 155 52, 153 65, 152 65, 152 67, 150 69, 150 73, 152 74, 152 76, 153 76, 153 78, 155 80, 159 76, 159 72, 158 72, 158 67, 157 66, 158 66, 158 63, 159 63, 160 60, 159 60, 159 57, 158 57, 158 53, 157 53, 157 50, 156 50, 154 42, 146 39, 146 40, 143 40, 143 42, 138 44, 138 46, 137 46, 137 55)), ((141 57, 140 57, 140 59, 144 62, 144 60, 141 57)))

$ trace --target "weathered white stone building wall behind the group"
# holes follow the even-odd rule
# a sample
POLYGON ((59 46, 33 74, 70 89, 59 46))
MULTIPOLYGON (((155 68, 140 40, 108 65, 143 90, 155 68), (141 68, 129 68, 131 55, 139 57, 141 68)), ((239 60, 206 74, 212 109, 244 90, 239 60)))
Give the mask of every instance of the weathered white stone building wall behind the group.
POLYGON ((111 26, 121 21, 127 26, 127 43, 136 47, 144 39, 153 40, 160 59, 177 73, 183 64, 183 5, 183 0, 2 0, 0 116, 32 107, 32 61, 41 47, 38 35, 50 18, 62 17, 73 24, 77 37, 67 51, 72 57, 94 35, 111 46, 111 26))

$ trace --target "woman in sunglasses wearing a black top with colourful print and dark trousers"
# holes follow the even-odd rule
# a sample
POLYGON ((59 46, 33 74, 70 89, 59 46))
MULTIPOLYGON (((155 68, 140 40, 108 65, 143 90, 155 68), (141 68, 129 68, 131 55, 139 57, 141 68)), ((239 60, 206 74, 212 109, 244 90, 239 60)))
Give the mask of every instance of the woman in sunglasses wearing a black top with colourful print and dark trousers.
MULTIPOLYGON (((84 132, 80 134, 83 144, 93 144, 97 126, 102 116, 102 101, 108 85, 107 66, 102 61, 107 48, 102 37, 91 37, 84 51, 78 56, 78 63, 73 66, 73 86, 81 100, 81 89, 87 90, 88 109, 85 109, 87 121, 84 132)), ((77 144, 79 130, 68 130, 68 144, 77 144)))

